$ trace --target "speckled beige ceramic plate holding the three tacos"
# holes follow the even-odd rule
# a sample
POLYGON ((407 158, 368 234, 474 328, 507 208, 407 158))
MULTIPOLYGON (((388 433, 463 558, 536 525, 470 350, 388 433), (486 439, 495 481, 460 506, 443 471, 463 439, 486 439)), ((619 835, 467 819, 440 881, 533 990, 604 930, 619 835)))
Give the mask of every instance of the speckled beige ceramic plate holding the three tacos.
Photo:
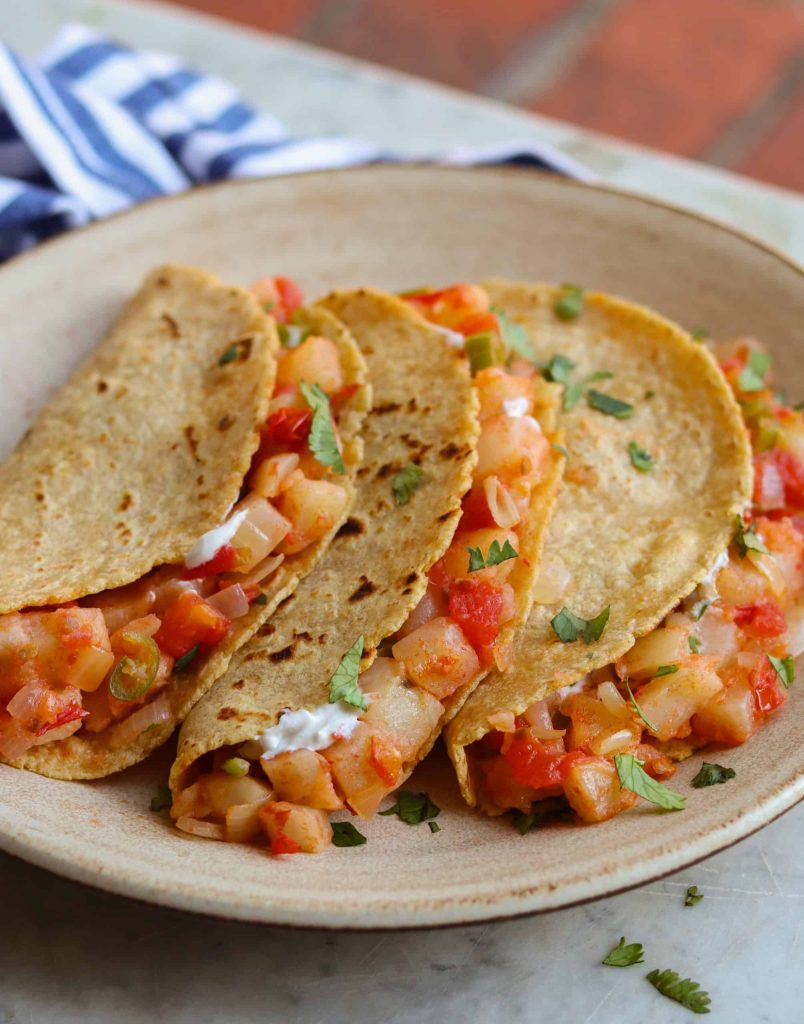
MULTIPOLYGON (((372 168, 227 183, 160 200, 52 242, 0 272, 0 456, 95 344, 144 272, 166 260, 231 281, 297 278, 389 289, 490 275, 572 281, 719 336, 750 332, 804 397, 800 269, 724 227, 632 196, 532 172, 372 168)), ((165 395, 169 401, 170 396, 165 395)), ((804 695, 720 755, 737 781, 674 787, 687 809, 643 807, 602 825, 520 838, 469 814, 442 754, 414 780, 443 807, 431 835, 377 818, 369 843, 320 857, 181 837, 149 811, 169 752, 93 783, 0 767, 0 847, 61 874, 171 906, 276 924, 385 928, 565 906, 675 870, 804 798, 804 695)))

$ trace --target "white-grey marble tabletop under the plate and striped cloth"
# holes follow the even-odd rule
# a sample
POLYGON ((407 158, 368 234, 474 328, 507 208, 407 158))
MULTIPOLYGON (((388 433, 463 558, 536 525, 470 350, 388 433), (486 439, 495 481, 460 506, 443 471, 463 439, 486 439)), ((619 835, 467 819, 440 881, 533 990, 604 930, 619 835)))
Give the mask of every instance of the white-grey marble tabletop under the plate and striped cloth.
MULTIPOLYGON (((804 258, 804 202, 779 189, 173 8, 0 0, 0 34, 29 53, 71 19, 227 76, 293 131, 361 134, 411 154, 547 138, 603 181, 737 223, 804 258)), ((706 863, 632 893, 541 918, 385 935, 185 916, 0 855, 0 1024, 689 1019, 644 980, 652 967, 700 981, 713 1021, 798 1024, 803 838, 799 807, 706 863), (692 884, 706 898, 686 908, 692 884), (601 967, 623 934, 645 945, 645 965, 601 967)))

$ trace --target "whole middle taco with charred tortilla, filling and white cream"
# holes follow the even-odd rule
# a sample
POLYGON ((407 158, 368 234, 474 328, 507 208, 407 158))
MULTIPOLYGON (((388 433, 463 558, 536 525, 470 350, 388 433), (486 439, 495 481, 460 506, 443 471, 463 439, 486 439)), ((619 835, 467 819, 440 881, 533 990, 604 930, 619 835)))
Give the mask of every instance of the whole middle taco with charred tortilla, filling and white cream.
POLYGON ((379 293, 322 302, 375 385, 352 526, 187 718, 171 773, 185 831, 323 849, 328 812, 374 814, 527 614, 560 477, 559 389, 503 369, 500 324, 471 321, 481 290, 439 294, 436 326, 379 293), (452 304, 463 326, 439 323, 452 304))

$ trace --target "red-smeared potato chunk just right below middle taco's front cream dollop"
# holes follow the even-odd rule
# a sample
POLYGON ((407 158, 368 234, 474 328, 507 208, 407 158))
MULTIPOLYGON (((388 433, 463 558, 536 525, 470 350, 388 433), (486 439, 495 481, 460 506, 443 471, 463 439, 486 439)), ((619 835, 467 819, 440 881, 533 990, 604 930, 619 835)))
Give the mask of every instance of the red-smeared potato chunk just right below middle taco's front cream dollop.
POLYGON ((401 756, 390 738, 366 723, 348 739, 333 743, 324 756, 346 803, 363 818, 374 814, 401 774, 401 756))

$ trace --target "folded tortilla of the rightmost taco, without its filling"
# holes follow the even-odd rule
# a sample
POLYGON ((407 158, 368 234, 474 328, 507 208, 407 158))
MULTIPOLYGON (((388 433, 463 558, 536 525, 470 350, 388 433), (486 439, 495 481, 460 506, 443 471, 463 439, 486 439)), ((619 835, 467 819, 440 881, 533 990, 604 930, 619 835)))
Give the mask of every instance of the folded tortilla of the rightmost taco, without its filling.
POLYGON ((537 584, 510 667, 488 676, 445 731, 471 806, 478 795, 466 749, 494 729, 490 716, 522 714, 652 630, 711 570, 752 488, 739 409, 705 346, 651 310, 602 293, 586 293, 581 316, 563 322, 554 312, 557 288, 485 287, 493 304, 524 328, 537 358, 565 356, 575 364, 573 381, 612 374, 588 386, 631 404, 633 414, 605 415, 584 397, 561 418, 568 460, 547 547, 569 584, 548 603, 539 603, 537 584), (652 471, 632 465, 631 441, 652 456, 652 471), (560 642, 551 626, 562 607, 592 618, 606 606, 605 630, 589 645, 560 642))

